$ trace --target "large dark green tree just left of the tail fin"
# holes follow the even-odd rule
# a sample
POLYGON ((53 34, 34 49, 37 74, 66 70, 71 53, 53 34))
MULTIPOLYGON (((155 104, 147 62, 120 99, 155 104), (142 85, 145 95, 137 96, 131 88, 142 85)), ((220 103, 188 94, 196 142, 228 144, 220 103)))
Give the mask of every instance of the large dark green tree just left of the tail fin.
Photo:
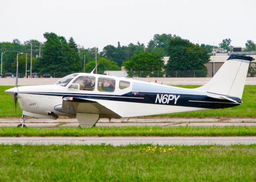
MULTIPOLYGON (((170 58, 165 66, 166 77, 176 77, 176 72, 173 72, 173 70, 182 70, 183 72, 184 70, 197 70, 196 77, 206 76, 205 63, 208 63, 210 55, 199 45, 175 37, 169 41, 168 54, 170 58)), ((179 77, 186 76, 188 75, 180 75, 179 77)))

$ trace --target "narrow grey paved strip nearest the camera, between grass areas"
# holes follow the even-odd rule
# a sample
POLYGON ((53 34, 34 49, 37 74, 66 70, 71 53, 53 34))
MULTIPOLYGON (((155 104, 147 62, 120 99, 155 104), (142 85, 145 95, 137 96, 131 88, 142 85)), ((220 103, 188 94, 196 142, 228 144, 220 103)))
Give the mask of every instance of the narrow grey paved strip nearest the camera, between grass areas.
POLYGON ((256 144, 256 137, 0 137, 0 144, 21 145, 237 145, 256 144))

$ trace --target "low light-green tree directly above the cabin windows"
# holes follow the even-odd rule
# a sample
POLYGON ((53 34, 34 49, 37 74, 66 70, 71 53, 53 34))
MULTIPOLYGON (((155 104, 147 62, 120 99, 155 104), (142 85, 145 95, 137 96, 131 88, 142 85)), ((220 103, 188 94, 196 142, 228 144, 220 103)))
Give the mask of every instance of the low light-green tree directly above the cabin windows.
MULTIPOLYGON (((121 68, 118 67, 116 62, 110 61, 104 57, 98 57, 97 63, 98 63, 98 67, 97 67, 98 74, 103 74, 104 71, 106 71, 106 70, 121 70, 121 68)), ((95 68, 95 66, 96 66, 95 61, 89 61, 85 65, 85 71, 91 72, 95 68)))

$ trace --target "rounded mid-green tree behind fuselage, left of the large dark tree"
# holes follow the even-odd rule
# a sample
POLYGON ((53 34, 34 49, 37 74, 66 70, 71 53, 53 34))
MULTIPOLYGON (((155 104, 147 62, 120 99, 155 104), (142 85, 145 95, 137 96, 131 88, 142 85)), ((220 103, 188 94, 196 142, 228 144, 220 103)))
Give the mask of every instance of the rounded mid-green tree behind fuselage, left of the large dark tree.
POLYGON ((129 77, 162 77, 164 60, 160 54, 144 51, 133 55, 130 60, 123 63, 123 66, 129 77))

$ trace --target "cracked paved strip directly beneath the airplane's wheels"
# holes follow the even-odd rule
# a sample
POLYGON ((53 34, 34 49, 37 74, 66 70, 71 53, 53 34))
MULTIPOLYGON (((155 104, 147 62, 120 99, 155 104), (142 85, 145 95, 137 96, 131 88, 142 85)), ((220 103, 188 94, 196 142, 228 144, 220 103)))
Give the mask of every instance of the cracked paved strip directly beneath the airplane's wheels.
MULTIPOLYGON (((16 127, 22 119, 0 119, 0 127, 16 127)), ((77 119, 28 119, 25 121, 27 127, 78 127, 77 119)), ((96 127, 124 127, 124 126, 161 126, 161 127, 176 127, 176 126, 256 126, 256 118, 122 118, 100 119, 96 127)))

